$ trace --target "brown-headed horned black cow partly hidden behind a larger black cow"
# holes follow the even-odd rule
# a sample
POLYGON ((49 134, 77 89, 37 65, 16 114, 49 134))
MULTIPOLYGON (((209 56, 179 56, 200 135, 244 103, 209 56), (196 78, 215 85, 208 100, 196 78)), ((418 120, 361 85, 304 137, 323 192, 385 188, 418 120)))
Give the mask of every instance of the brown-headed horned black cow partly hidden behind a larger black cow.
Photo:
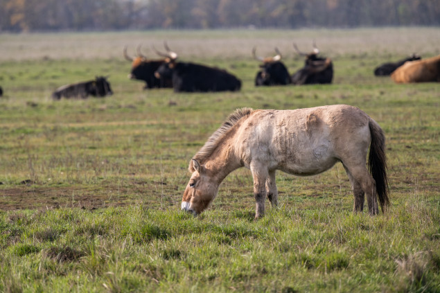
POLYGON ((148 58, 141 53, 141 45, 137 47, 137 57, 127 55, 127 46, 124 46, 123 54, 125 59, 132 62, 132 71, 128 75, 128 78, 132 80, 143 80, 146 83, 144 89, 173 87, 173 82, 171 82, 170 78, 155 77, 155 72, 165 60, 148 60, 148 58))

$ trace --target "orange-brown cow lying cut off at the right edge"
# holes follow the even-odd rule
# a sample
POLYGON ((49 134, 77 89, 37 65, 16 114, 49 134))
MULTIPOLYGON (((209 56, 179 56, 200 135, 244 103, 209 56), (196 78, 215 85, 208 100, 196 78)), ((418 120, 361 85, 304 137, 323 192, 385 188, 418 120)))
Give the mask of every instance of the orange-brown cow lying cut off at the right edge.
POLYGON ((396 83, 440 82, 440 55, 405 62, 391 74, 391 78, 396 83))

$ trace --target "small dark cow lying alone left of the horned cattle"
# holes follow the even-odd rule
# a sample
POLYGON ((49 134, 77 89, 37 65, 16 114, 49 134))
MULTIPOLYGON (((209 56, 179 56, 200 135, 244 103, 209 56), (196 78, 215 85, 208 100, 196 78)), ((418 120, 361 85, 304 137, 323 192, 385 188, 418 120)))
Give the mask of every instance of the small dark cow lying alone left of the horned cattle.
POLYGON ((52 98, 60 100, 60 98, 87 98, 87 96, 103 97, 112 95, 112 88, 110 87, 107 77, 96 76, 95 80, 87 82, 78 82, 71 85, 63 85, 56 89, 52 98))

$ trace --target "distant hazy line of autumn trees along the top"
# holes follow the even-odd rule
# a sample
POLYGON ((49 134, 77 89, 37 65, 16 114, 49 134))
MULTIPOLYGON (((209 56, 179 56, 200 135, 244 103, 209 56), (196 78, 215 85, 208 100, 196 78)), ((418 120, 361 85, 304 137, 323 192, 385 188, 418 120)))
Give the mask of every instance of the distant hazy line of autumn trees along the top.
POLYGON ((439 0, 0 0, 15 32, 439 25, 439 0))

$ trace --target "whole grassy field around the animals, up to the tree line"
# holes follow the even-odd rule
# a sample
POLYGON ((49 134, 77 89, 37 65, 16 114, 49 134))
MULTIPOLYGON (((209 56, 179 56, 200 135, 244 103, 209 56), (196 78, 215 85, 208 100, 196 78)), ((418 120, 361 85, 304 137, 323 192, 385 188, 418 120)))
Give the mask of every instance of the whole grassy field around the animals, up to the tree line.
POLYGON ((438 28, 0 35, 0 292, 440 292, 440 85, 376 78, 382 62, 440 54, 438 28), (290 73, 313 39, 333 85, 256 88, 258 55, 290 73), (227 69, 236 93, 144 91, 122 48, 227 69), (107 98, 51 100, 109 75, 107 98), (238 107, 348 104, 385 130, 391 208, 352 213, 341 164, 279 172, 280 208, 254 221, 239 169, 199 217, 179 211, 188 161, 238 107))

